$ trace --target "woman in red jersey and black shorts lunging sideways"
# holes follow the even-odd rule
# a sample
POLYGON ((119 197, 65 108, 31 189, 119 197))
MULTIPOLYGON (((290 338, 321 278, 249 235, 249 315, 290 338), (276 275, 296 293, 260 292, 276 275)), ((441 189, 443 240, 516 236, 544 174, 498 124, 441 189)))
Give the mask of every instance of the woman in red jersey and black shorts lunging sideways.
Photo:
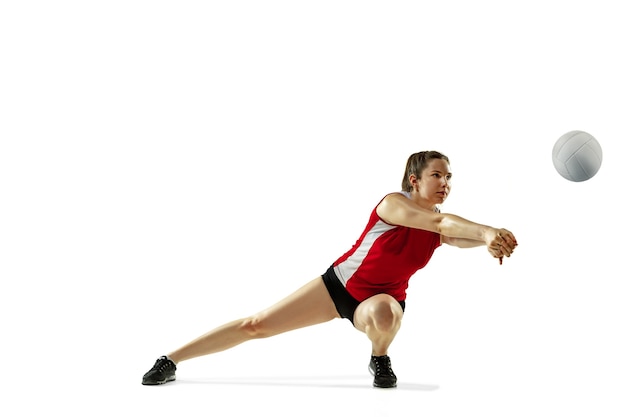
POLYGON ((436 151, 411 155, 402 191, 387 194, 372 211, 356 244, 322 275, 293 294, 250 317, 217 327, 156 363, 144 385, 176 379, 176 366, 251 340, 345 318, 372 344, 369 370, 374 386, 396 386, 387 355, 400 329, 409 278, 442 243, 470 248, 485 245, 502 262, 517 246, 515 236, 439 211, 450 193, 449 159, 436 151))

